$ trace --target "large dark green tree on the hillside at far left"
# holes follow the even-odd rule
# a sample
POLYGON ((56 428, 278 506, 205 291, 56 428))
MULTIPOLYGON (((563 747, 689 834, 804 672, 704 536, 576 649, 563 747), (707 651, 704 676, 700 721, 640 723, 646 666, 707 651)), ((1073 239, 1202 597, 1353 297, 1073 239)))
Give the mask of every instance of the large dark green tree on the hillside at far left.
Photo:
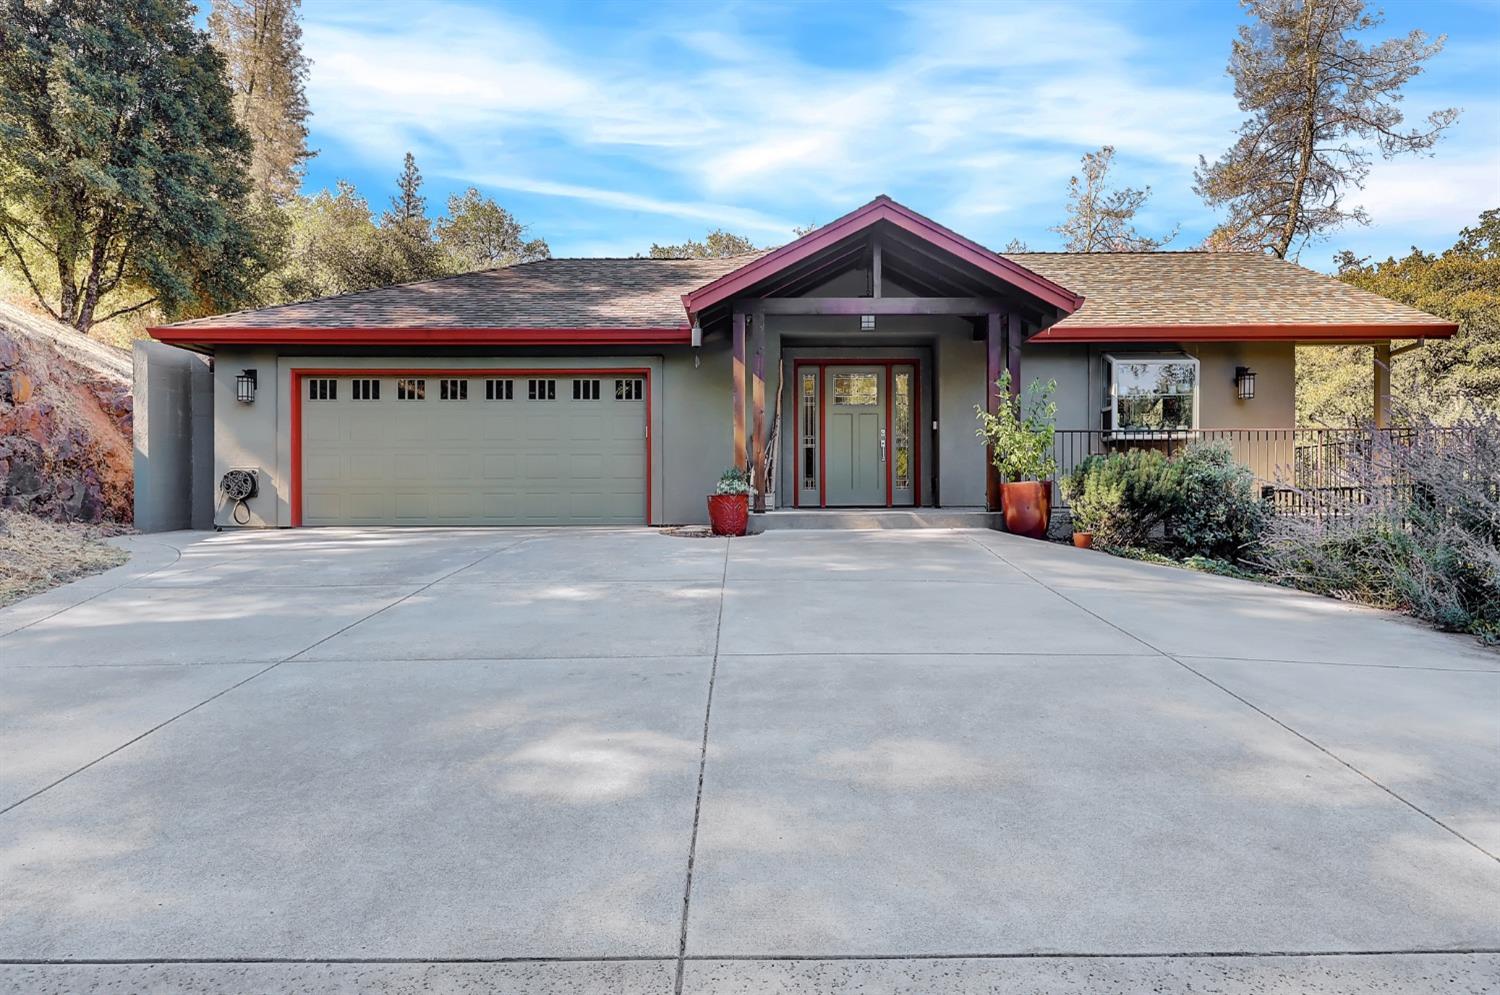
POLYGON ((192 18, 186 0, 0 9, 0 251, 80 332, 232 308, 264 269, 250 140, 192 18))

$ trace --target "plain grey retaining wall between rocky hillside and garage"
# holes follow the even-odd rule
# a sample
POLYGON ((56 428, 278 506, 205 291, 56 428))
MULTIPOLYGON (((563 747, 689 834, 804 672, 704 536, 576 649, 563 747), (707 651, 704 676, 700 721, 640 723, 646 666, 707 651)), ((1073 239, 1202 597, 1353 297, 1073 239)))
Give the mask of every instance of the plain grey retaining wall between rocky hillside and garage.
MULTIPOLYGON (((208 528, 213 522, 213 374, 202 356, 136 342, 135 527, 208 528)), ((232 386, 231 386, 232 390, 232 386)))

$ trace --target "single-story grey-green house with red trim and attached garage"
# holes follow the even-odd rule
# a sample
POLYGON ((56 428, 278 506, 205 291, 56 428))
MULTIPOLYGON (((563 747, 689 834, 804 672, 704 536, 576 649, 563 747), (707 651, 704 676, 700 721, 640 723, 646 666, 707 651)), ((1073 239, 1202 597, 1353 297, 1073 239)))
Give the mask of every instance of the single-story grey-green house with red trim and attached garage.
POLYGON ((700 522, 747 461, 778 507, 993 507, 975 405, 1002 371, 1118 444, 1287 429, 1296 344, 1454 332, 1262 254, 998 254, 878 197, 771 252, 546 260, 152 336, 212 356, 213 480, 254 485, 216 522, 285 527, 700 522))

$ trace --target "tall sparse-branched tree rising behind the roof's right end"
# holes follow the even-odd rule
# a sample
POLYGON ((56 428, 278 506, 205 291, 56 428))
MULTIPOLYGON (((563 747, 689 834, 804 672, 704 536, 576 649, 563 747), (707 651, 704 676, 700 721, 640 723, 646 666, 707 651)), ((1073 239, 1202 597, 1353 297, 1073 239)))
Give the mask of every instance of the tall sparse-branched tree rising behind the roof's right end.
POLYGON ((1354 35, 1378 27, 1362 0, 1240 0, 1254 18, 1239 29, 1228 62, 1234 96, 1250 119, 1212 165, 1198 158, 1194 191, 1228 218, 1214 249, 1264 249, 1286 258, 1294 245, 1353 221, 1344 197, 1362 189, 1370 146, 1384 158, 1431 149, 1458 119, 1449 108, 1422 128, 1402 128, 1401 87, 1443 48, 1422 32, 1365 47, 1354 35))

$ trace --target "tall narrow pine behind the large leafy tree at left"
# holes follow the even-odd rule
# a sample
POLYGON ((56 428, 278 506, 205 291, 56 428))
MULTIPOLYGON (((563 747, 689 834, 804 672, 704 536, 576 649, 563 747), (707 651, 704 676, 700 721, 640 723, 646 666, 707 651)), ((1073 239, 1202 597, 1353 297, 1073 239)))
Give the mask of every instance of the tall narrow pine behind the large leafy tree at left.
POLYGON ((228 66, 234 111, 255 143, 250 182, 285 204, 302 186, 308 150, 308 59, 300 0, 213 0, 208 32, 228 66))

